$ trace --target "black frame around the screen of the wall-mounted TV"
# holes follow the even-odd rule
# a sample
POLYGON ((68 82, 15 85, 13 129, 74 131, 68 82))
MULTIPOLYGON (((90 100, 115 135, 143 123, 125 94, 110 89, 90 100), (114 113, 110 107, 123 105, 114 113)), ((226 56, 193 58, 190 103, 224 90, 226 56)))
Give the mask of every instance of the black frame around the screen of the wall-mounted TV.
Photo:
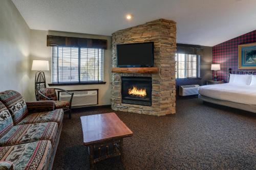
POLYGON ((127 44, 117 44, 116 45, 116 55, 117 55, 117 59, 116 59, 116 64, 117 67, 154 67, 154 41, 150 41, 150 42, 139 42, 139 43, 127 43, 127 44), (152 65, 118 65, 118 46, 121 45, 131 45, 131 44, 145 44, 145 43, 150 43, 152 44, 152 65))

